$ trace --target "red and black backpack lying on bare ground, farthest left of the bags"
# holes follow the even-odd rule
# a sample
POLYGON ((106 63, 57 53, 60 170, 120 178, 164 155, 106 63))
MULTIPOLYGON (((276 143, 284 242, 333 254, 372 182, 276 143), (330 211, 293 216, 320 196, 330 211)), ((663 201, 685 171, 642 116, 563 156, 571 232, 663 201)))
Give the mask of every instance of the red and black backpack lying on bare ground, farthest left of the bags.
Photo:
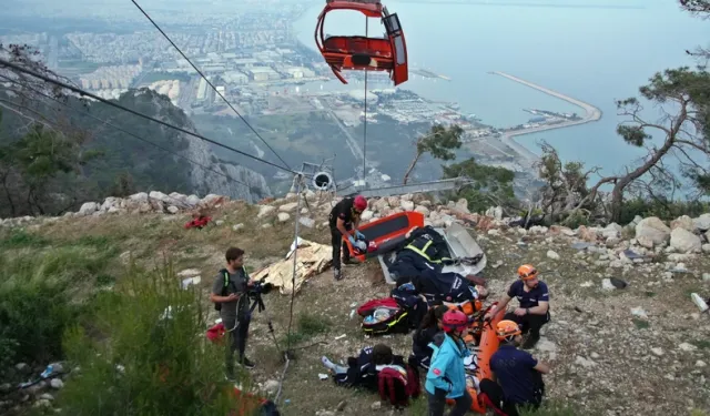
POLYGON ((357 308, 362 328, 366 335, 384 335, 409 332, 409 313, 393 297, 373 300, 357 308))

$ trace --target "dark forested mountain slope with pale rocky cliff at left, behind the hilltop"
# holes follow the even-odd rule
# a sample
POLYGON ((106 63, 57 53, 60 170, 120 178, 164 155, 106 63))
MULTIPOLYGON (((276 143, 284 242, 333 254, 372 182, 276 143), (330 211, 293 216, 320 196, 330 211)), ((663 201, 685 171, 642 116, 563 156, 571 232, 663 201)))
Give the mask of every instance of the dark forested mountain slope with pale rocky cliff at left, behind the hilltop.
MULTIPOLYGON (((131 110, 196 133, 187 115, 165 95, 148 89, 130 90, 116 101, 131 110)), ((43 205, 36 204, 38 207, 32 207, 30 202, 23 207, 21 202, 26 199, 29 201, 29 194, 32 193, 26 190, 30 187, 29 180, 19 180, 27 169, 18 164, 17 158, 14 162, 0 158, 0 173, 13 170, 14 175, 6 175, 6 182, 11 186, 0 189, 0 206, 4 206, 0 209, 0 216, 10 214, 6 202, 12 203, 14 215, 41 214, 43 211, 57 213, 116 193, 154 190, 199 196, 214 193, 248 202, 272 196, 262 174, 217 160, 212 145, 200 139, 101 102, 81 102, 74 97, 65 98, 64 102, 70 108, 51 100, 13 97, 0 90, 0 156, 2 149, 6 149, 6 154, 12 152, 7 150, 12 149, 8 145, 21 142, 27 136, 32 121, 40 121, 48 125, 45 130, 61 131, 68 136, 82 135, 84 139, 80 152, 98 155, 79 163, 79 169, 74 170, 77 172, 52 176, 51 185, 44 187, 49 187, 54 196, 52 201, 44 199, 43 205), (63 203, 54 203, 58 200, 63 203)))

